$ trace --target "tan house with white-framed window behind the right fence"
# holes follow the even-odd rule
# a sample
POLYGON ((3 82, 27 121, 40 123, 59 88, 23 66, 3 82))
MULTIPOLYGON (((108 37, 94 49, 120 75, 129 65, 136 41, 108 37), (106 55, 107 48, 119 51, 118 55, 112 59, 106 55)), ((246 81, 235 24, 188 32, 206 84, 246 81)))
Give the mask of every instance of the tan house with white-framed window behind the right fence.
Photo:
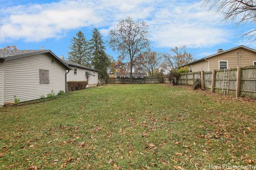
POLYGON ((216 54, 206 56, 184 66, 189 67, 189 72, 198 72, 250 65, 256 65, 256 50, 245 46, 238 46, 228 50, 219 49, 216 54))

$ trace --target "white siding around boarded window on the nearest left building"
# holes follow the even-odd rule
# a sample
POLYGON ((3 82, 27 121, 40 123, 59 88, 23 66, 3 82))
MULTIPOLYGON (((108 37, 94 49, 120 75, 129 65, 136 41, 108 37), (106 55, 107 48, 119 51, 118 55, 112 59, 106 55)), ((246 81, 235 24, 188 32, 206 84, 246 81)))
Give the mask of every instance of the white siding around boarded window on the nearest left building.
POLYGON ((66 67, 49 54, 21 57, 5 61, 5 102, 38 99, 53 90, 65 91, 66 67), (54 62, 52 62, 54 60, 54 62), (39 83, 39 69, 49 70, 49 84, 39 83))

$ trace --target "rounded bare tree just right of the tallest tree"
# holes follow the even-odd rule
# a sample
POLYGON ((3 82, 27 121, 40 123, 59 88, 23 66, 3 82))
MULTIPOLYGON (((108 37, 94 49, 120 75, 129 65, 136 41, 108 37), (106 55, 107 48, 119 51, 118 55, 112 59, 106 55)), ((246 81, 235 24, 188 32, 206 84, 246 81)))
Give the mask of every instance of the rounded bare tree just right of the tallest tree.
POLYGON ((162 61, 162 55, 148 50, 137 57, 135 71, 142 72, 148 76, 154 76, 156 69, 162 61))

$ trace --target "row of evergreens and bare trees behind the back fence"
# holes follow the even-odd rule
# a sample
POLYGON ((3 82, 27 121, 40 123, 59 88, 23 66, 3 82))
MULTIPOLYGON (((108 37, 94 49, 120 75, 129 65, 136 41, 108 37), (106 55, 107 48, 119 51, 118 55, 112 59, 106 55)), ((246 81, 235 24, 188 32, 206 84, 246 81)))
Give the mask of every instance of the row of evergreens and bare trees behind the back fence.
POLYGON ((99 71, 101 79, 107 78, 110 74, 130 72, 130 81, 132 72, 140 72, 147 76, 167 76, 171 80, 176 76, 174 73, 178 74, 182 65, 193 60, 192 55, 186 52, 185 46, 175 47, 169 54, 152 51, 148 25, 146 22, 133 21, 130 17, 120 20, 116 27, 109 31, 107 43, 118 53, 117 61, 106 54, 105 43, 98 29, 93 30, 89 41, 83 32, 79 31, 76 37, 71 39, 68 60, 93 67, 99 71))

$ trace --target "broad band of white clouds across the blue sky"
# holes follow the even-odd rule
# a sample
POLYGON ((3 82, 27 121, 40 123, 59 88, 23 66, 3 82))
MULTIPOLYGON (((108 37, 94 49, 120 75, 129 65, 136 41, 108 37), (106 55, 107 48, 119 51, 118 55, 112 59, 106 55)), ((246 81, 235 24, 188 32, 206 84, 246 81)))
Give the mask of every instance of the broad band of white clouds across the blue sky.
POLYGON ((150 40, 157 47, 213 46, 226 42, 229 37, 228 30, 219 24, 220 16, 202 9, 198 2, 63 0, 2 8, 0 13, 3 18, 0 42, 58 38, 69 30, 83 27, 99 27, 107 35, 126 16, 147 21, 150 40))

